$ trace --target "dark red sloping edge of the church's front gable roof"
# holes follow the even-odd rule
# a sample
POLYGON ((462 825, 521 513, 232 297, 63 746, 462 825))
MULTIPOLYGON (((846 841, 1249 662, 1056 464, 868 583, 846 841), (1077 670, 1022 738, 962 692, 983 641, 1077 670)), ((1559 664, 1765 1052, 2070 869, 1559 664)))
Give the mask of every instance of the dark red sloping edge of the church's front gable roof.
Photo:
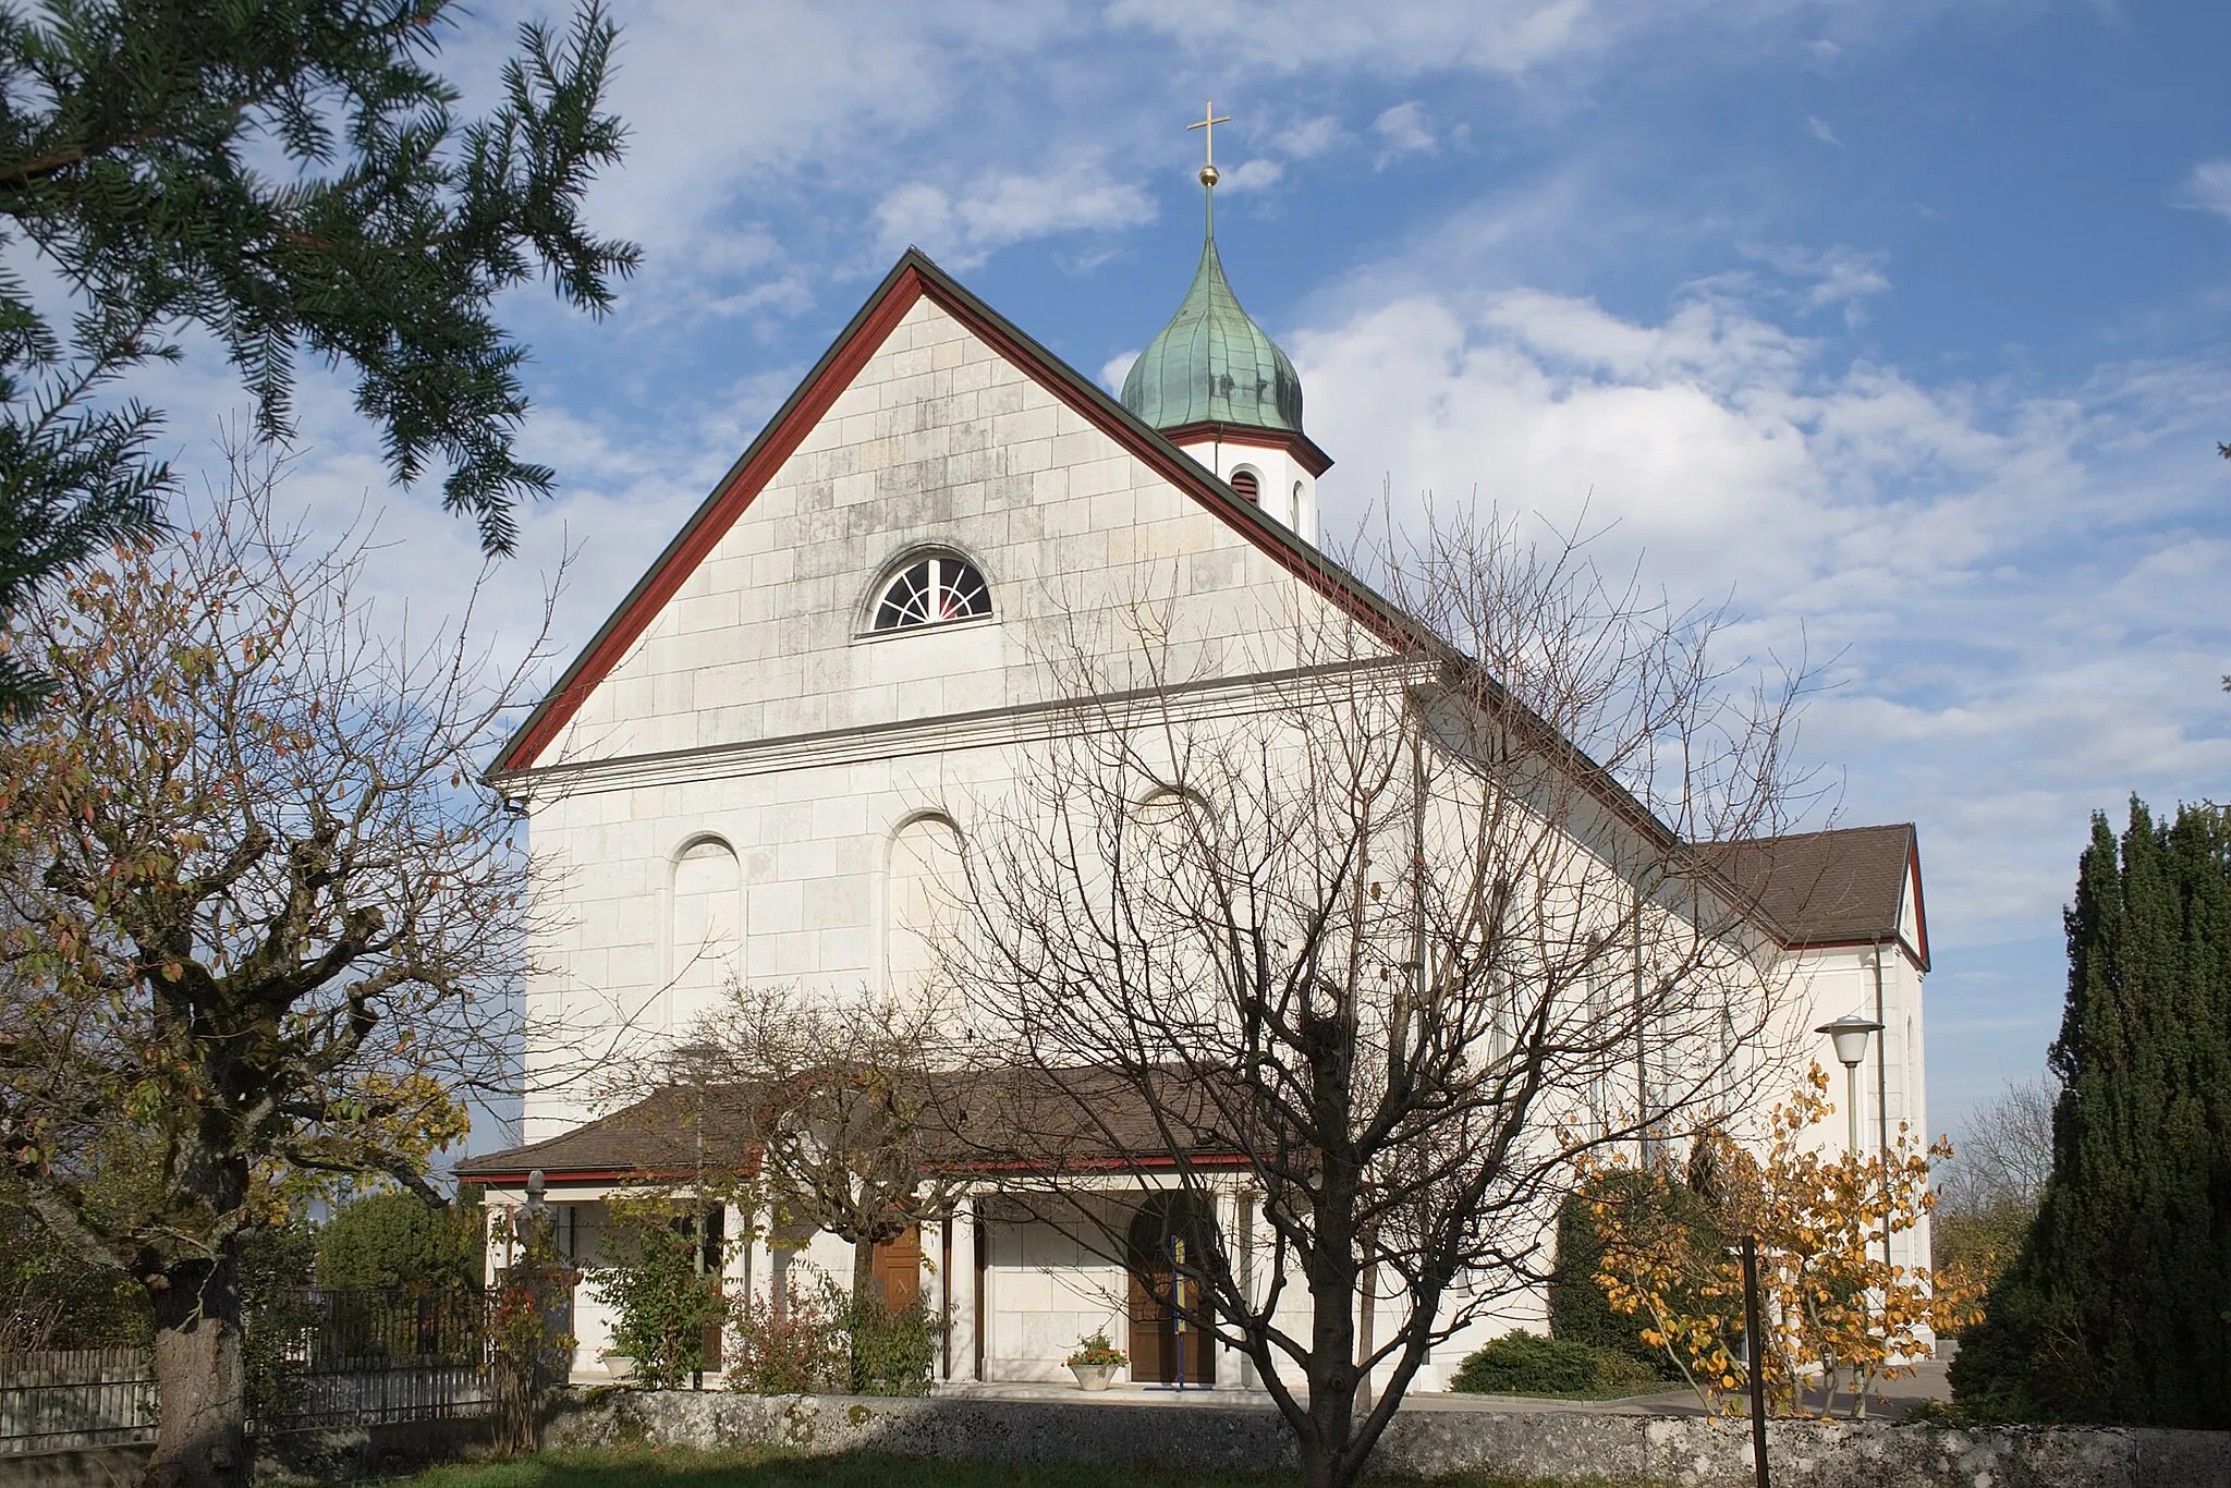
POLYGON ((850 386, 852 377, 881 348, 917 299, 930 299, 953 319, 966 326, 977 339, 1022 368, 1053 397, 1069 404, 1100 433, 1109 435, 1127 453, 1151 466, 1158 475, 1191 495, 1227 526, 1236 529, 1258 549, 1269 553, 1294 578, 1307 582, 1319 593, 1343 605, 1361 622, 1399 645, 1423 640, 1417 625, 1354 573, 1319 553, 1296 538, 1281 522, 1265 515, 1261 506, 1243 500, 1225 482, 1216 480, 1200 462, 1180 451, 1167 437, 1149 428, 1138 415, 1109 397, 1095 381, 1071 368, 1051 350, 1017 330, 1006 317, 964 290, 950 274, 937 268, 919 248, 908 248, 883 283, 877 286, 868 303, 859 308, 837 341, 821 355, 805 381, 776 410, 767 426, 752 439, 752 446, 727 468, 680 533, 651 562, 649 571, 636 580, 620 607, 596 631, 573 665, 564 669, 558 685, 535 705, 518 732, 498 752, 491 776, 533 770, 542 752, 558 738, 564 725, 580 709, 582 700, 605 680, 627 656, 629 647, 651 627, 658 611, 712 553, 712 549, 736 524, 752 500, 774 480, 774 473, 812 433, 830 404, 850 386))

